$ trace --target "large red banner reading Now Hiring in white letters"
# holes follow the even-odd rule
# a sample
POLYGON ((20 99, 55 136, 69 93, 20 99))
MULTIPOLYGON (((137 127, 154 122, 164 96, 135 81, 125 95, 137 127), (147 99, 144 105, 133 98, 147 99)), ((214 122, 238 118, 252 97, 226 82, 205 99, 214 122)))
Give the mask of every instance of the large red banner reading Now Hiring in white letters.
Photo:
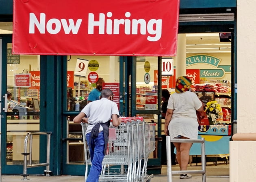
POLYGON ((179 0, 13 0, 13 54, 175 56, 179 0))

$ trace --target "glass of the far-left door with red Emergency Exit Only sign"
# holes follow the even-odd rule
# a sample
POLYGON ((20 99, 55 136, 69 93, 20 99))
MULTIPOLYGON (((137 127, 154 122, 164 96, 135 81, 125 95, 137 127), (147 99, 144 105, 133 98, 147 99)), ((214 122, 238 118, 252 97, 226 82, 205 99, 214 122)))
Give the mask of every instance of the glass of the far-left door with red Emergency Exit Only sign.
MULTIPOLYGON (((39 56, 12 55, 7 45, 7 164, 23 165, 24 139, 39 131, 39 56)), ((29 141, 28 141, 29 143, 29 141)), ((39 136, 33 137, 33 163, 39 163, 39 136)))

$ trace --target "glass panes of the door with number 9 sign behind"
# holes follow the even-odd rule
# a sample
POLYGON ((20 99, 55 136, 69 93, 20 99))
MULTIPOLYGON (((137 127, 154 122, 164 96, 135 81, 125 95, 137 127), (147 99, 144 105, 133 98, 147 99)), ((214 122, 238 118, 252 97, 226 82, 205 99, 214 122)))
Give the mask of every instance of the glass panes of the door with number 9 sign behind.
MULTIPOLYGON (((97 78, 103 78, 105 83, 119 83, 118 56, 70 56, 67 61, 67 111, 81 111, 87 105, 87 98, 91 90, 96 88, 95 82, 89 78, 90 73, 96 73, 97 78), (88 66, 78 64, 87 61, 88 66), (76 71, 81 71, 79 76, 76 71), (79 107, 76 107, 79 104, 79 107)), ((95 74, 94 73, 94 74, 95 74)), ((74 123, 75 116, 67 116, 67 164, 84 163, 84 146, 82 141, 82 127, 74 123)))

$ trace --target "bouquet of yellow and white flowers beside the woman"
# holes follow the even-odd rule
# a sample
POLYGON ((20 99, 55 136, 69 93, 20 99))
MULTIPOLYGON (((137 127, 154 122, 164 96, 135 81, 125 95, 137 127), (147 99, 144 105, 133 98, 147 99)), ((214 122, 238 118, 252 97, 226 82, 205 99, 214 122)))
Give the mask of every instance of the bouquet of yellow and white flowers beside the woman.
POLYGON ((216 123, 217 118, 221 115, 221 107, 217 103, 217 101, 210 101, 206 104, 206 115, 209 119, 210 125, 213 125, 216 123))

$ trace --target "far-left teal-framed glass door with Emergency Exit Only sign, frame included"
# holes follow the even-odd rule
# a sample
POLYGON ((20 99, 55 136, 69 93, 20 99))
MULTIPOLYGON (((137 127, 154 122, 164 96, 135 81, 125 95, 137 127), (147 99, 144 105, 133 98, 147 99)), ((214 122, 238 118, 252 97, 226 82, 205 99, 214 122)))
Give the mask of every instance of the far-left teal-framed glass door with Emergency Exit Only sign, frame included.
MULTIPOLYGON (((2 36, 1 45, 2 173, 22 174, 24 139, 28 132, 39 131, 39 59, 38 56, 13 55, 11 36, 2 36)), ((37 164, 40 154, 39 136, 33 137, 32 146, 32 164, 37 164)), ((28 174, 43 173, 40 168, 30 168, 28 174)))

